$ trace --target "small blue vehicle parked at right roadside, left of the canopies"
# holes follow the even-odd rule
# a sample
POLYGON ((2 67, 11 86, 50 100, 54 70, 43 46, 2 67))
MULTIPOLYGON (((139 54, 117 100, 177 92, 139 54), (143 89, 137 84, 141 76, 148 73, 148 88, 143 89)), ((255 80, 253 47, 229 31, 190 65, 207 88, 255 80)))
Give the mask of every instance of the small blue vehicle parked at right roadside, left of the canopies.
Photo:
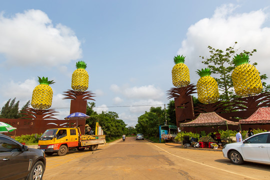
POLYGON ((176 137, 178 130, 176 125, 159 125, 159 133, 160 138, 168 141, 172 140, 174 141, 174 138, 176 137))

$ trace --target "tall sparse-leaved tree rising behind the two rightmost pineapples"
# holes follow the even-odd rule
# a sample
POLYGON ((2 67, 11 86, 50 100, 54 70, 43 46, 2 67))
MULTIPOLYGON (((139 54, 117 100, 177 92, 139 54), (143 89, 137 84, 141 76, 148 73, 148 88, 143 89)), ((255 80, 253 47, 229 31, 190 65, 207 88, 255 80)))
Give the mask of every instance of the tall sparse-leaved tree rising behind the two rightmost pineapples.
MULTIPOLYGON (((229 46, 225 49, 225 51, 221 49, 215 49, 211 46, 208 46, 210 57, 200 56, 203 61, 203 64, 206 64, 207 67, 211 69, 212 74, 214 75, 215 80, 219 89, 221 89, 221 93, 219 98, 221 100, 228 101, 232 95, 234 95, 234 91, 232 89, 233 84, 231 80, 231 72, 234 69, 235 65, 232 62, 232 56, 238 50, 234 50, 234 46, 237 42, 234 42, 233 46, 229 46), (217 77, 216 77, 217 76, 217 77)), ((252 55, 256 52, 256 49, 253 49, 251 52, 243 50, 240 54, 246 53, 252 55)), ((256 65, 257 63, 253 63, 256 65)), ((261 80, 267 79, 266 74, 260 75, 261 80)), ((270 88, 269 85, 266 85, 265 82, 262 82, 264 90, 268 90, 270 88)))

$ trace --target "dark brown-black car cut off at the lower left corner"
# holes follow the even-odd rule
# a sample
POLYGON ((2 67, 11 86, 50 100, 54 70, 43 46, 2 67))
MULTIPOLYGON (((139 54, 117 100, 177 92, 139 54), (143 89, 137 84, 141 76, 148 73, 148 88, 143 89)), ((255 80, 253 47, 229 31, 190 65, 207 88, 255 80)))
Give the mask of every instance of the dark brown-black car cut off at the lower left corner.
POLYGON ((0 134, 0 179, 42 179, 46 159, 40 149, 28 148, 0 134))

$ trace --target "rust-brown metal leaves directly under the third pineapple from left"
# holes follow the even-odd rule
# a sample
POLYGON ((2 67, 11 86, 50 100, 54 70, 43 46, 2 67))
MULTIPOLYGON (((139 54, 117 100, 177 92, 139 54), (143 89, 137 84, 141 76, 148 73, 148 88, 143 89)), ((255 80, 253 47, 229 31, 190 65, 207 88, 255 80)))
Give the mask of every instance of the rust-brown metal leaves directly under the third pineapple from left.
POLYGON ((169 95, 167 99, 196 93, 194 92, 194 90, 196 90, 196 86, 194 84, 189 84, 184 87, 172 87, 169 90, 167 90, 167 95, 169 95))

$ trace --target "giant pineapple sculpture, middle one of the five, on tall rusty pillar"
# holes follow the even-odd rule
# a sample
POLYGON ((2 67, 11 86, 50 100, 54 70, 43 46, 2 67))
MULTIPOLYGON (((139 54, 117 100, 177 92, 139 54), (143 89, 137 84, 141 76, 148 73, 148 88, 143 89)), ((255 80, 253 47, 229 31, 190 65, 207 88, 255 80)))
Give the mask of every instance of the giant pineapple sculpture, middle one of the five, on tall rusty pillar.
POLYGON ((171 70, 171 75, 172 75, 172 84, 175 87, 187 86, 190 83, 189 69, 184 64, 184 58, 185 56, 183 55, 174 56, 175 65, 171 70))

